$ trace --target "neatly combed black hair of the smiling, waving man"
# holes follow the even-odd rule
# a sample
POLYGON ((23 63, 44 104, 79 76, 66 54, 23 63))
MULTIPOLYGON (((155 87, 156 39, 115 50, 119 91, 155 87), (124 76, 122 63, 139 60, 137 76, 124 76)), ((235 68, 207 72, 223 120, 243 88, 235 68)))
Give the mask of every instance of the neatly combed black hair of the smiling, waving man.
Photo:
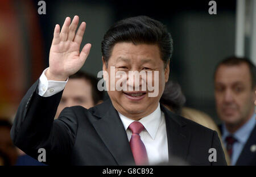
POLYGON ((164 68, 170 61, 173 51, 173 41, 166 26, 148 16, 135 16, 115 23, 104 35, 101 42, 101 52, 106 66, 115 44, 132 42, 137 44, 157 44, 164 68))

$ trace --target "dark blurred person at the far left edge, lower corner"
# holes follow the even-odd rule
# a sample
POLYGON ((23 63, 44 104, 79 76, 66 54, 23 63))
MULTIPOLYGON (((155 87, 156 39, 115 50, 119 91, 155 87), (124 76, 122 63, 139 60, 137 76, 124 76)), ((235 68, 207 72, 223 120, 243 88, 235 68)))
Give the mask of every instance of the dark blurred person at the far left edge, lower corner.
POLYGON ((10 136, 11 123, 5 118, 0 118, 0 151, 2 161, 9 165, 15 165, 18 158, 18 151, 10 136))

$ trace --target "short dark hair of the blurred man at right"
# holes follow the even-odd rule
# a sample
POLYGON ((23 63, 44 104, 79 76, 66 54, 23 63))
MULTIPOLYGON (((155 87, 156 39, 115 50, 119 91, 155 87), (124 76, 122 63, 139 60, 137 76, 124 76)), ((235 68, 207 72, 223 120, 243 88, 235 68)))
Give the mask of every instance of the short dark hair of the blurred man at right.
POLYGON ((221 65, 226 66, 237 66, 241 64, 246 64, 250 70, 251 75, 251 88, 256 87, 256 67, 248 58, 246 57, 236 57, 236 56, 230 56, 219 62, 214 70, 214 79, 216 77, 216 71, 218 68, 220 68, 221 65))

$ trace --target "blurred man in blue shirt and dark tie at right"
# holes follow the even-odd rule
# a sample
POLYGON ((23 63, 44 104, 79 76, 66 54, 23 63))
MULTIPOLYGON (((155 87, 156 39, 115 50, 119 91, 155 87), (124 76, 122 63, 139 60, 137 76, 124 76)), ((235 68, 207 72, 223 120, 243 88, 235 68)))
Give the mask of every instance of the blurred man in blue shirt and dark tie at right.
POLYGON ((256 165, 255 65, 228 57, 214 71, 214 94, 222 140, 231 165, 256 165))

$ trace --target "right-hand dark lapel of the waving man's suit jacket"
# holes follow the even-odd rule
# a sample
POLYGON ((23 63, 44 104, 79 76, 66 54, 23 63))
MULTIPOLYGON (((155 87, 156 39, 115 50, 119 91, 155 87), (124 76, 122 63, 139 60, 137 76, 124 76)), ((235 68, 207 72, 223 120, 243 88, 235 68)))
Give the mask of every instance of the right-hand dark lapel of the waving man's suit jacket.
POLYGON ((167 108, 162 105, 161 109, 166 119, 169 162, 176 157, 185 161, 191 139, 189 131, 185 126, 186 124, 181 120, 181 117, 168 111, 167 108))

